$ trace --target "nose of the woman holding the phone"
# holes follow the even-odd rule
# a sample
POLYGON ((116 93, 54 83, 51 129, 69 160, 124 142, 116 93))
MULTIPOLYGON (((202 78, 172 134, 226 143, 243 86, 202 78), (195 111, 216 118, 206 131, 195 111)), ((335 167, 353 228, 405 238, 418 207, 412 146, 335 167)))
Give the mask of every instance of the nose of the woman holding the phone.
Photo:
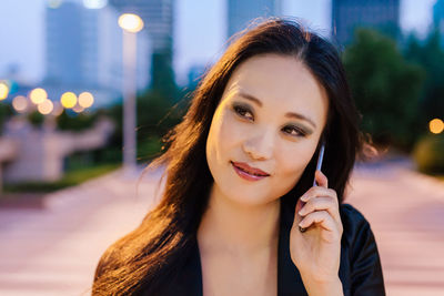
POLYGON ((273 155, 273 135, 271 132, 261 132, 243 142, 243 151, 253 160, 264 161, 273 155))

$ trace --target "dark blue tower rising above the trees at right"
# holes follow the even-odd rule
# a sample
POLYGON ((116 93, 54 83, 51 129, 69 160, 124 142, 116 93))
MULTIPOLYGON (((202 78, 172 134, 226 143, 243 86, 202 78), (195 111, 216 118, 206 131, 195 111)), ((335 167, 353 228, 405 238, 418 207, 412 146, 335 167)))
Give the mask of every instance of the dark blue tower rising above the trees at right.
POLYGON ((340 44, 350 43, 357 27, 380 29, 396 37, 400 0, 332 0, 333 39, 340 44))

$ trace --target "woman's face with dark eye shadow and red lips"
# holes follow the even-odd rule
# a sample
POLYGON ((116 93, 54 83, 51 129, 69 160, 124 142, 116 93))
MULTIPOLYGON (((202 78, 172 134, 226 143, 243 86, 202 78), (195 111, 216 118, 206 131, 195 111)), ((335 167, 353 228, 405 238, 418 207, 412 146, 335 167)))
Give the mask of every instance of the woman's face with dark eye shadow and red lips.
POLYGON ((325 90, 295 58, 262 54, 240 64, 206 142, 213 191, 248 205, 287 193, 315 152, 327 110, 325 90))

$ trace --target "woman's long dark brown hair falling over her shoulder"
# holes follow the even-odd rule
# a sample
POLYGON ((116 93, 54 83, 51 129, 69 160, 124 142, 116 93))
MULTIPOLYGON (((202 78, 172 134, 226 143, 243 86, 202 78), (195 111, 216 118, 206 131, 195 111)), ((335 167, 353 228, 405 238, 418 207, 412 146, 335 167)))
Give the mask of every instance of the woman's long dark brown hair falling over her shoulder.
MULTIPOLYGON (((103 254, 95 271, 93 295, 162 295, 183 266, 206 208, 213 183, 205 156, 210 124, 234 69, 249 58, 275 53, 295 57, 325 89, 330 110, 323 173, 340 202, 362 149, 359 114, 336 49, 320 35, 284 19, 268 19, 241 32, 195 90, 183 121, 169 134, 169 149, 150 167, 165 167, 162 200, 141 225, 103 254)), ((294 207, 313 182, 319 149, 297 184, 281 202, 294 207)), ((294 210, 293 210, 294 211, 294 210)))

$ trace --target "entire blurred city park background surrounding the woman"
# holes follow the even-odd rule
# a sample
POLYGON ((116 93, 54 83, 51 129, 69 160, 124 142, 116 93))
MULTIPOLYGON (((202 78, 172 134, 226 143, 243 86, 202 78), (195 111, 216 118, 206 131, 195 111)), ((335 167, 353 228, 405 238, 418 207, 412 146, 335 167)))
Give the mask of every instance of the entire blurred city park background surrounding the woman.
POLYGON ((200 78, 256 17, 341 51, 377 150, 347 202, 389 295, 444 295, 444 0, 2 0, 0 294, 88 294, 105 247, 159 196, 162 153, 200 78))

